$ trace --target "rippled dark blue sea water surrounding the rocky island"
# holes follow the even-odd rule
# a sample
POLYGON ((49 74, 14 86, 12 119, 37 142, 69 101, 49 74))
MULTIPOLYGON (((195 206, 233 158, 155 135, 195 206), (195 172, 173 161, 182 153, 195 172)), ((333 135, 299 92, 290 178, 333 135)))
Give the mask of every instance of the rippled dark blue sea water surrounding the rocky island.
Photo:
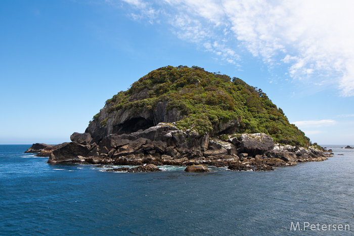
POLYGON ((345 146, 326 146, 336 155, 323 162, 209 173, 53 165, 29 147, 0 145, 0 235, 354 234, 354 149, 345 146))

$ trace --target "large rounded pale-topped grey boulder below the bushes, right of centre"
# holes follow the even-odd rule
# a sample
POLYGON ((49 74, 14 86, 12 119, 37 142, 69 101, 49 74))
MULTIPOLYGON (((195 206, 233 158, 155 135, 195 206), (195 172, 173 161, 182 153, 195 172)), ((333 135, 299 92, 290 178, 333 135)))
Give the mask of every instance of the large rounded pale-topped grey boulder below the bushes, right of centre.
POLYGON ((273 138, 264 133, 242 134, 241 152, 248 153, 249 156, 262 155, 273 150, 273 138))

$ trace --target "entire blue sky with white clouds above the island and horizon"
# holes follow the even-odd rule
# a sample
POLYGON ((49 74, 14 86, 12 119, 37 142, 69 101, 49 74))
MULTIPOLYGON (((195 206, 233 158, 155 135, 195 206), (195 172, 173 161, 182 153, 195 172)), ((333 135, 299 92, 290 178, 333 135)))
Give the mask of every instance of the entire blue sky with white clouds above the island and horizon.
POLYGON ((0 1, 0 144, 59 144, 152 70, 261 88, 323 145, 354 145, 351 0, 0 1))

